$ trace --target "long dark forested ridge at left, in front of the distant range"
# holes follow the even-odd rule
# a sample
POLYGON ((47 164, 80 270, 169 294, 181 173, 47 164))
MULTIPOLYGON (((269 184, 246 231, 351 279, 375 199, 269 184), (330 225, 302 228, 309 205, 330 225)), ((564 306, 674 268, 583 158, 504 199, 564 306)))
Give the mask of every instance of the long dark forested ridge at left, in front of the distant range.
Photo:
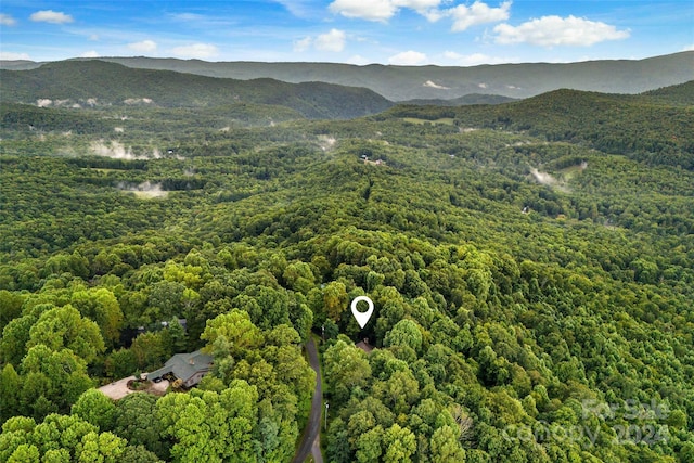
MULTIPOLYGON (((133 69, 104 61, 63 61, 36 69, 0 69, 2 100, 41 106, 209 107, 250 103, 286 106, 310 118, 350 118, 391 103, 363 88, 272 79, 220 79, 133 69)), ((282 111, 283 108, 280 108, 282 111)))

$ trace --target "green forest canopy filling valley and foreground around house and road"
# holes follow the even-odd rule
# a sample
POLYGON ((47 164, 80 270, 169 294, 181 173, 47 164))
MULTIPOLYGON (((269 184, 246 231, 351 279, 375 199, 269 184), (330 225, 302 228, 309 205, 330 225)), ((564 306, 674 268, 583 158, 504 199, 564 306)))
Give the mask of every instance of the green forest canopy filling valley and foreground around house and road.
POLYGON ((691 88, 4 103, 0 461, 288 462, 309 336, 325 461, 694 461, 691 88), (191 390, 94 390, 198 348, 191 390))

